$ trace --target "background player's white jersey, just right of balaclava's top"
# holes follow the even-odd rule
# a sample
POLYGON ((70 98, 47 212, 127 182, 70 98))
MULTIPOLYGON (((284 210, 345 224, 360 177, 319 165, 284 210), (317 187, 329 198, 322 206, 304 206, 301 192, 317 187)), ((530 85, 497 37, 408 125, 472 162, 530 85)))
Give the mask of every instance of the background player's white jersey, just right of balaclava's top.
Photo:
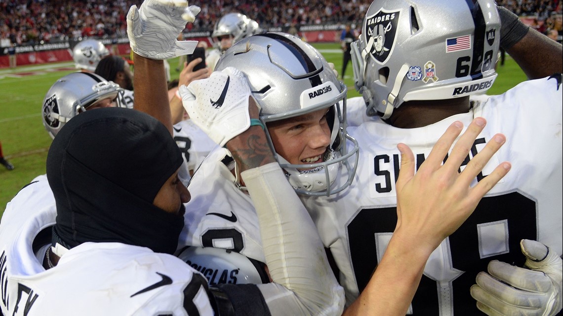
POLYGON ((191 173, 199 168, 199 165, 217 144, 190 119, 176 123, 173 129, 174 140, 184 157, 184 164, 180 169, 180 179, 184 182, 185 174, 189 179, 191 173))

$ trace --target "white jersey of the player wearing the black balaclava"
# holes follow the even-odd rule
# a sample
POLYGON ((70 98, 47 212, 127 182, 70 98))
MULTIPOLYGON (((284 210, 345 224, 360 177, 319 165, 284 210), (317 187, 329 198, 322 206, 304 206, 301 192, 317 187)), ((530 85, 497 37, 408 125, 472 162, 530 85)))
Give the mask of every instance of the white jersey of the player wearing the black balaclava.
POLYGON ((45 270, 44 251, 39 259, 34 251, 50 244, 55 218, 44 180, 8 203, 0 223, 4 315, 213 315, 205 278, 175 256, 145 247, 87 242, 45 270))

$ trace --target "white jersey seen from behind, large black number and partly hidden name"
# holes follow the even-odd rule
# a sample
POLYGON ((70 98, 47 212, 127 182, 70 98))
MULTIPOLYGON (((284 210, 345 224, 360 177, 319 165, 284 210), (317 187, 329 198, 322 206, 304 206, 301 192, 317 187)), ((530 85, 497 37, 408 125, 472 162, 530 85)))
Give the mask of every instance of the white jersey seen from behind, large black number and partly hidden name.
MULTIPOLYGON (((502 161, 510 161, 512 169, 432 253, 409 314, 480 314, 470 296, 476 274, 486 271, 490 260, 521 266, 525 259, 521 239, 537 240, 561 255, 562 91, 556 78, 531 80, 505 94, 485 98, 486 102, 476 102, 469 113, 427 127, 400 129, 372 118, 348 128, 360 144, 354 182, 336 196, 303 198, 341 271, 347 304, 367 285, 395 229, 395 182, 400 167, 397 143, 412 149, 418 168, 455 120, 466 127, 477 116, 488 121, 466 162, 495 133, 507 137, 473 184, 502 161)), ((343 174, 336 182, 346 179, 343 174)))

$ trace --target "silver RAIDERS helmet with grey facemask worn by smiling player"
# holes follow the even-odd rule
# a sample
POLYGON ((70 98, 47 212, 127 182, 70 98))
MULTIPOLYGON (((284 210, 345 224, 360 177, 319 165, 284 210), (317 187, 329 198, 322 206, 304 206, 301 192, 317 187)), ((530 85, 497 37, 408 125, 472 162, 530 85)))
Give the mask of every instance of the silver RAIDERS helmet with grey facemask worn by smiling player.
POLYGON ((350 185, 358 165, 358 142, 346 132, 346 85, 320 53, 310 44, 285 33, 262 33, 236 43, 217 63, 216 70, 233 66, 248 79, 252 96, 261 107, 260 120, 276 160, 289 183, 302 195, 330 195, 350 185), (267 123, 292 118, 320 109, 328 112, 330 148, 323 162, 289 164, 276 153, 267 123), (347 150, 346 140, 354 147, 347 150), (348 159, 355 155, 354 164, 348 159), (332 184, 340 166, 347 168, 348 179, 338 188, 332 184), (302 170, 307 169, 307 170, 302 170))

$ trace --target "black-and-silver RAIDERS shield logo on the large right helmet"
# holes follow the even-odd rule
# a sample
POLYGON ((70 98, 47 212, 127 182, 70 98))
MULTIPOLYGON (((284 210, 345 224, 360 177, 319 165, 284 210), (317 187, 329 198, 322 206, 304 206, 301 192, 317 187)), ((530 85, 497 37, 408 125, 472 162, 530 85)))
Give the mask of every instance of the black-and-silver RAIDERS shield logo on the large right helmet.
POLYGON ((398 21, 399 11, 390 12, 383 8, 365 19, 367 49, 380 64, 385 64, 393 51, 398 21))

